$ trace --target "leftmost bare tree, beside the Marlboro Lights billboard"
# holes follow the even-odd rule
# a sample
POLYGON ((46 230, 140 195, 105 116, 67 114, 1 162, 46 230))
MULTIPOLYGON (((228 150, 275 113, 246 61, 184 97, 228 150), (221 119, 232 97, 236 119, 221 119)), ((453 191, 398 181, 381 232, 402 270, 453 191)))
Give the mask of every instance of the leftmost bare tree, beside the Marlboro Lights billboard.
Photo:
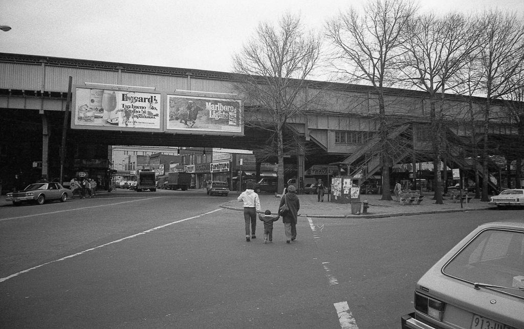
POLYGON ((305 31, 300 17, 286 14, 277 26, 260 23, 254 36, 233 56, 236 89, 251 107, 246 125, 274 133, 278 191, 284 184, 283 132, 288 120, 308 109, 315 98, 311 91, 317 89, 309 88, 315 83, 306 79, 318 66, 320 54, 319 36, 305 31))

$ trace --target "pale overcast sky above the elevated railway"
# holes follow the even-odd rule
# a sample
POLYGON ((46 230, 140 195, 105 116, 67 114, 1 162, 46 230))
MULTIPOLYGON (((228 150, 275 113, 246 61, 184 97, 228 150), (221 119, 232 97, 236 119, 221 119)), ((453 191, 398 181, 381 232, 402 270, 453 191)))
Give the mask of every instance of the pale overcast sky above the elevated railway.
MULTIPOLYGON (((0 52, 163 67, 232 71, 232 56, 260 21, 326 19, 364 0, 2 0, 0 52)), ((421 12, 498 8, 524 14, 524 0, 420 0, 421 12)))

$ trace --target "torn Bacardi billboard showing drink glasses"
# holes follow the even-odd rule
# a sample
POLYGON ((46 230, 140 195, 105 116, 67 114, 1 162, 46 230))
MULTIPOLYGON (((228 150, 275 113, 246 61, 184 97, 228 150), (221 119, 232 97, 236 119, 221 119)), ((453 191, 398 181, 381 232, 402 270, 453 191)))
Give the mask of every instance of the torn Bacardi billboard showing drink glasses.
POLYGON ((77 86, 71 128, 162 131, 162 94, 77 86))

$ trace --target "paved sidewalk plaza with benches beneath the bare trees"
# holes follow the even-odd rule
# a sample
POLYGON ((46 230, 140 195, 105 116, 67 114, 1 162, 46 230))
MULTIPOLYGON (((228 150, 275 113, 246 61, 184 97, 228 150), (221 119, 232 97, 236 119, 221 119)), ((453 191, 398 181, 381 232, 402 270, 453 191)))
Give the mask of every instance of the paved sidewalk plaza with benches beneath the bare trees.
MULTIPOLYGON (((238 192, 231 192, 230 195, 238 196, 239 194, 238 192)), ((435 200, 432 200, 433 195, 426 193, 424 200, 419 205, 400 205, 396 201, 380 200, 382 198, 381 195, 367 194, 361 195, 361 201, 368 201, 367 214, 353 215, 351 213, 351 204, 328 202, 327 195, 324 196, 324 202, 317 202, 316 194, 304 194, 298 195, 298 197, 300 199, 299 216, 305 217, 379 218, 493 209, 493 206, 488 206, 487 202, 481 202, 480 199, 471 199, 469 203, 464 202, 461 209, 460 202, 454 203, 447 196, 444 196, 443 204, 435 204, 435 200)), ((259 199, 263 211, 269 209, 271 213, 277 212, 280 202, 279 197, 276 198, 273 194, 260 193, 259 199)), ((239 201, 226 202, 222 207, 238 211, 243 210, 242 202, 239 201)))

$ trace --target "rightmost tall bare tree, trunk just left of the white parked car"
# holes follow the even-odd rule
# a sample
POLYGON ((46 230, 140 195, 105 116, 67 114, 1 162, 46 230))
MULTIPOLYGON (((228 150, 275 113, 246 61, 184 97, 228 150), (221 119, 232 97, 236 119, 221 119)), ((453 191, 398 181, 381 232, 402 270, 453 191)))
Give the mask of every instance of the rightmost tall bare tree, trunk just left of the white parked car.
POLYGON ((482 17, 485 23, 479 39, 479 59, 482 72, 482 87, 486 95, 484 106, 484 148, 482 152, 483 181, 481 201, 488 198, 488 135, 492 103, 514 91, 519 83, 515 79, 522 70, 524 61, 524 23, 515 14, 487 12, 482 17))

